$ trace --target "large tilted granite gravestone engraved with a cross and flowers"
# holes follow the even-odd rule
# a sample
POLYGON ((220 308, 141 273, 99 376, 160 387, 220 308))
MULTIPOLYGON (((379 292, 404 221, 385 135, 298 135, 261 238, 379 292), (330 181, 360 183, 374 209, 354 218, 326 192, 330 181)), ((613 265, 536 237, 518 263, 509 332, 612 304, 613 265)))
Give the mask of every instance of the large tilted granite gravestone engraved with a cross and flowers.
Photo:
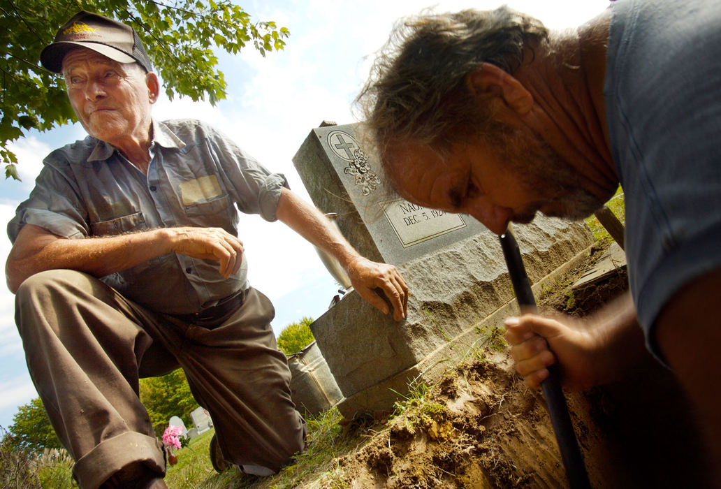
MULTIPOLYGON (((402 322, 353 291, 311 324, 347 418, 391 410, 410 380, 433 382, 449 360, 469 351, 479 330, 517 313, 498 237, 469 216, 415 206, 383 190, 379 162, 361 148, 356 127, 315 128, 293 157, 315 205, 337 213, 350 244, 396 265, 410 288, 402 322)), ((543 216, 515 226, 515 234, 536 290, 593 243, 585 224, 543 216)))

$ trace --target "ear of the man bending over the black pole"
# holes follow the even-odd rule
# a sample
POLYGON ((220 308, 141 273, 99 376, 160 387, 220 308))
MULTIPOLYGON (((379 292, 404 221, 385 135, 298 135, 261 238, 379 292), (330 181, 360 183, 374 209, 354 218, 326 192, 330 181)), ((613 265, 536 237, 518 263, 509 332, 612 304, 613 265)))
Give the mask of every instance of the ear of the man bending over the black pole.
POLYGON ((533 95, 518 79, 491 63, 481 63, 467 74, 466 87, 476 98, 502 97, 518 115, 530 112, 534 105, 533 95))

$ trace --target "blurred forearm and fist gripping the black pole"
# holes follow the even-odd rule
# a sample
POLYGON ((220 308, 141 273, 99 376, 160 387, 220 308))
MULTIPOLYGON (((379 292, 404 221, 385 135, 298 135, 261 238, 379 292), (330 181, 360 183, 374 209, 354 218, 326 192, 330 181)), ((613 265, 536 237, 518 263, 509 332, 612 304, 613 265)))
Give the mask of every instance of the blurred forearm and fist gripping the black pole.
POLYGON ((548 377, 552 364, 559 364, 565 387, 583 390, 619 379, 645 355, 630 294, 585 320, 526 314, 505 325, 516 371, 531 388, 548 377))

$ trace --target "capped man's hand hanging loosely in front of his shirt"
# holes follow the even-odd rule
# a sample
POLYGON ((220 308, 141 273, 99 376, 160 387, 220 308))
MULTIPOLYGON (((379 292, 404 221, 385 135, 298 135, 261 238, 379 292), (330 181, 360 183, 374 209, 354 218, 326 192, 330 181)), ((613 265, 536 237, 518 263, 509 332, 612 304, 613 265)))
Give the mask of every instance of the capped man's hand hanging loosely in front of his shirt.
POLYGON ((225 229, 218 227, 177 227, 172 231, 172 251, 219 263, 224 278, 236 273, 243 262, 243 243, 225 229))

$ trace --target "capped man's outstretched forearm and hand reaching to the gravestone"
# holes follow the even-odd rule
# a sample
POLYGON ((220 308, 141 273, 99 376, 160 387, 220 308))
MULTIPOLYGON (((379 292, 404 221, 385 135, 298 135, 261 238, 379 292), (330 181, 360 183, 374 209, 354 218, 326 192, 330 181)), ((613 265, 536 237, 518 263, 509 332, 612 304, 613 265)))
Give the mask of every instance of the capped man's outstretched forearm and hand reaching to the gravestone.
POLYGON ((398 321, 405 317, 408 287, 393 265, 376 263, 361 256, 317 208, 286 188, 280 195, 276 213, 280 221, 336 257, 363 299, 388 314, 388 305, 375 291, 380 288, 393 306, 394 319, 398 321))

